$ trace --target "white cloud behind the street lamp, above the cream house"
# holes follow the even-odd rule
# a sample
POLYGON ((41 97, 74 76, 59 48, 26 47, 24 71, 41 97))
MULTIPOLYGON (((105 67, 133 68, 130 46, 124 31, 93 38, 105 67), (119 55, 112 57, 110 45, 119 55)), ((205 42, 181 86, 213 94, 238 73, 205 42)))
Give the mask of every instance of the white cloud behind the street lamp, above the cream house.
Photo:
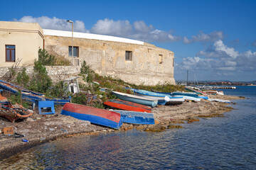
MULTIPOLYGON (((36 18, 32 16, 23 16, 21 19, 15 19, 14 21, 39 23, 39 25, 44 29, 71 30, 71 23, 67 23, 65 19, 56 17, 49 18, 48 16, 41 16, 36 18)), ((82 21, 74 21, 74 31, 88 33, 88 30, 85 29, 85 23, 82 21)))

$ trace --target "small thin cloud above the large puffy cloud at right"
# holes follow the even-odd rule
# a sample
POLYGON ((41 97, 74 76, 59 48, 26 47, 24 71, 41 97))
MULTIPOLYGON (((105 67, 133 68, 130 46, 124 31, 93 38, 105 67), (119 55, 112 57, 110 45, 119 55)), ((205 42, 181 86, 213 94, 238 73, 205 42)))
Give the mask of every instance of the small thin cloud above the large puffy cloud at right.
POLYGON ((219 39, 223 39, 222 31, 213 31, 212 33, 209 33, 209 34, 200 32, 197 35, 193 35, 191 39, 184 37, 183 43, 189 44, 192 42, 213 42, 219 39))

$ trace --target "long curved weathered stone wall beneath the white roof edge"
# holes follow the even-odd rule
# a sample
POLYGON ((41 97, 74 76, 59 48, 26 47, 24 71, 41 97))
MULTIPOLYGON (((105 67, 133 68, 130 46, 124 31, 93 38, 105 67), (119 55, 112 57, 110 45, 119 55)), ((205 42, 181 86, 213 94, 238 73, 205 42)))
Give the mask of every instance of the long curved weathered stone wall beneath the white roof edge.
MULTIPOLYGON (((74 38, 79 48, 80 65, 85 60, 98 74, 119 77, 133 84, 155 85, 174 80, 174 52, 144 43, 137 45, 124 42, 74 38), (132 51, 132 61, 125 60, 125 52, 132 51)), ((48 52, 68 57, 72 38, 45 35, 48 52)))

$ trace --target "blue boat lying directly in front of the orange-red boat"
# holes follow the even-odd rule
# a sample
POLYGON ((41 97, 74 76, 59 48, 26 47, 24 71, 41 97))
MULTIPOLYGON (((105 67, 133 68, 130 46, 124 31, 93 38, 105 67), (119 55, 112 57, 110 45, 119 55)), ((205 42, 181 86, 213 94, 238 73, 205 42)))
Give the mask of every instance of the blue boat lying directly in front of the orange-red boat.
POLYGON ((121 110, 114 110, 114 112, 121 114, 124 123, 154 125, 154 115, 152 113, 121 110))

